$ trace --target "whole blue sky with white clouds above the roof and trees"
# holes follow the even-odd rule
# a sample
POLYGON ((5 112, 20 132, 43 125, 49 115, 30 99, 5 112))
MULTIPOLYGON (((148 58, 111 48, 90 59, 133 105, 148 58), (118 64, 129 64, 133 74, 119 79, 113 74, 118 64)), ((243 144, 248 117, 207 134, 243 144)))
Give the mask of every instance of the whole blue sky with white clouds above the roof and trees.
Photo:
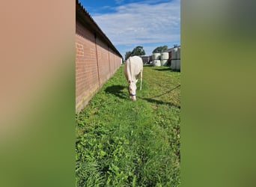
POLYGON ((180 0, 79 0, 114 46, 125 55, 143 46, 180 45, 180 0))

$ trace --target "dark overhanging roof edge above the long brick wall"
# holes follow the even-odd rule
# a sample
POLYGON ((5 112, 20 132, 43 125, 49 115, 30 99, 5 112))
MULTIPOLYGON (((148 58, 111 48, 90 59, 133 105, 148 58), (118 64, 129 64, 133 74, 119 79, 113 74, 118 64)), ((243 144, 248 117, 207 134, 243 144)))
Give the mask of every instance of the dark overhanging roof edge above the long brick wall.
POLYGON ((122 55, 118 52, 118 49, 112 44, 109 38, 104 34, 104 32, 100 29, 94 19, 92 19, 91 15, 87 10, 82 6, 82 4, 76 0, 76 20, 79 20, 83 25, 86 26, 90 31, 92 31, 97 37, 100 37, 114 52, 116 52, 121 58, 122 55))

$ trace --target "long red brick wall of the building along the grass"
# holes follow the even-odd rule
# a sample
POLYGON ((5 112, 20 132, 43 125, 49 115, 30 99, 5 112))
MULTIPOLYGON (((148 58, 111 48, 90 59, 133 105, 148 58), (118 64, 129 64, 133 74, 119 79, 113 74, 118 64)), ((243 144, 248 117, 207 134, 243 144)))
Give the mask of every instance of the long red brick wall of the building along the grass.
POLYGON ((76 112, 121 66, 121 57, 76 21, 76 112))

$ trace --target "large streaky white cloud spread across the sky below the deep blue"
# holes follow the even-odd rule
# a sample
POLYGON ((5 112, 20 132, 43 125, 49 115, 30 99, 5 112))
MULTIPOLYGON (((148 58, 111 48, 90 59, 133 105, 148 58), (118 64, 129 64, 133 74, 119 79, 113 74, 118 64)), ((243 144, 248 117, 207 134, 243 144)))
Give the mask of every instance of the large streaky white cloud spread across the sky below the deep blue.
POLYGON ((115 13, 93 18, 115 46, 179 42, 180 0, 160 4, 149 1, 121 5, 115 7, 115 13))

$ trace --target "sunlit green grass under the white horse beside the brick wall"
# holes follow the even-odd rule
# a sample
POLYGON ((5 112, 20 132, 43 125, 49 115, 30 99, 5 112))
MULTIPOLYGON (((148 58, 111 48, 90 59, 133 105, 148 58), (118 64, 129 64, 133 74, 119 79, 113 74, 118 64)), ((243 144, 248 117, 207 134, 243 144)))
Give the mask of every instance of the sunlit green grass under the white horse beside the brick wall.
POLYGON ((123 68, 76 114, 76 186, 180 186, 180 88, 150 99, 180 72, 144 66, 132 102, 123 68))

